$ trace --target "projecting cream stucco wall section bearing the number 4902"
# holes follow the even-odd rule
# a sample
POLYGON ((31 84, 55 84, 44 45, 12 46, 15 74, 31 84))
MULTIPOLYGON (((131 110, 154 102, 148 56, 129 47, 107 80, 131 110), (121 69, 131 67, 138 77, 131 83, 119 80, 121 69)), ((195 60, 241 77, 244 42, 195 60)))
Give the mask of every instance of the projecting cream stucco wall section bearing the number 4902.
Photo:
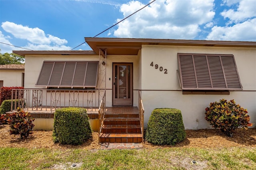
MULTIPOLYGON (((144 126, 155 108, 176 108, 182 111, 186 129, 210 128, 204 119, 204 109, 220 99, 234 99, 248 109, 251 123, 256 123, 256 49, 242 47, 189 47, 143 45, 141 57, 142 101, 145 109, 144 126), (233 54, 243 91, 230 95, 182 95, 177 76, 177 53, 233 54), (150 63, 154 63, 154 67, 150 63), (158 64, 158 69, 155 68, 158 64), (163 71, 159 70, 163 68, 163 71), (167 74, 164 74, 167 69, 167 74), (196 122, 198 119, 198 122, 196 122)), ((254 125, 255 127, 255 125, 254 125)))

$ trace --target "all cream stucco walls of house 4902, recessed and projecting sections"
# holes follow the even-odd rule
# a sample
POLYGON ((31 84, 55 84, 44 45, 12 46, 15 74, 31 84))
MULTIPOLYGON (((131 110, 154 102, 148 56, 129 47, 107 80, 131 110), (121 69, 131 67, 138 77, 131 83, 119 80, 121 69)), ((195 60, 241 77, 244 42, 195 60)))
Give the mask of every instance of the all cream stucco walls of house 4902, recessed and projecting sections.
MULTIPOLYGON (((98 56, 26 55, 25 88, 35 87, 43 61, 98 61, 98 56)), ((138 105, 138 90, 142 90, 145 109, 144 126, 155 108, 169 107, 182 111, 186 129, 210 128, 204 119, 204 109, 210 102, 222 98, 235 99, 248 109, 251 123, 256 124, 256 48, 235 47, 189 47, 142 45, 138 55, 107 55, 106 60, 106 106, 112 106, 112 64, 133 63, 133 103, 138 105), (243 85, 243 91, 230 91, 230 95, 182 95, 176 70, 177 53, 233 54, 243 85), (158 69, 150 66, 158 64, 158 69), (162 67, 163 71, 159 68, 162 67), (167 74, 164 74, 167 69, 167 74), (198 119, 198 122, 196 121, 198 119)), ((100 63, 101 64, 101 63, 100 63)), ((254 124, 254 127, 255 127, 254 124)))

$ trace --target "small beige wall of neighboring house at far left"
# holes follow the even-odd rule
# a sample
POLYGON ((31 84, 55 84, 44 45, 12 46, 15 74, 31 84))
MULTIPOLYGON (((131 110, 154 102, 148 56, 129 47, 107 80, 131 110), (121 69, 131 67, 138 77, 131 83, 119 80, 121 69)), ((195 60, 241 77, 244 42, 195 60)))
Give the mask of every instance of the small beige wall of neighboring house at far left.
POLYGON ((6 87, 21 87, 22 73, 24 71, 0 70, 0 80, 4 81, 4 86, 6 87))

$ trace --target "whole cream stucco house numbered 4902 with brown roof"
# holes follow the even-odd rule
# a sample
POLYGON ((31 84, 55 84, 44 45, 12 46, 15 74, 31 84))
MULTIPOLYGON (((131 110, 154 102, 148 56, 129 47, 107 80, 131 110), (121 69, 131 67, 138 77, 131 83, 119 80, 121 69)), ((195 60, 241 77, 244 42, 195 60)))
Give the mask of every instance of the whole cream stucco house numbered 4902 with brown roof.
POLYGON ((108 108, 132 106, 140 112, 143 104, 142 129, 153 109, 165 107, 182 111, 186 129, 200 129, 211 127, 204 119, 205 108, 224 98, 248 109, 250 122, 256 123, 256 42, 85 41, 92 50, 13 51, 26 58, 24 88, 42 90, 39 103, 31 107, 92 109, 104 98, 108 108))

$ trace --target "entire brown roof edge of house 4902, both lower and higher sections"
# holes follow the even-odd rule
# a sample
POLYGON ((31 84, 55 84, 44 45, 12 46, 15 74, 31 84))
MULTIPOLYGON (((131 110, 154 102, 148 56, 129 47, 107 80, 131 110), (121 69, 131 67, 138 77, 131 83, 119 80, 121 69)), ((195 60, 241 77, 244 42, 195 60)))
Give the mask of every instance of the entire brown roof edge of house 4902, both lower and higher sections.
MULTIPOLYGON (((92 50, 68 51, 13 51, 18 55, 98 55, 106 49, 108 55, 138 55, 142 45, 182 45, 205 47, 256 47, 256 42, 171 40, 142 38, 84 38, 92 50)), ((104 52, 103 52, 104 53, 104 52)))

